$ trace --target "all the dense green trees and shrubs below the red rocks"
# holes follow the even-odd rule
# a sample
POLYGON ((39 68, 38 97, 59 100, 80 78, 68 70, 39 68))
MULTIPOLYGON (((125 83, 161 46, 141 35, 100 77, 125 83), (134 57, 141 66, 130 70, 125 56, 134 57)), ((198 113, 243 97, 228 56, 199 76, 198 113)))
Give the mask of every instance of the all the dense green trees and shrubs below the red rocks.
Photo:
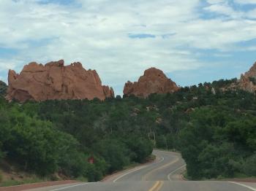
POLYGON ((154 146, 180 150, 191 179, 256 176, 256 98, 220 90, 234 81, 146 99, 21 105, 1 98, 0 157, 37 174, 95 181, 143 163, 154 146))

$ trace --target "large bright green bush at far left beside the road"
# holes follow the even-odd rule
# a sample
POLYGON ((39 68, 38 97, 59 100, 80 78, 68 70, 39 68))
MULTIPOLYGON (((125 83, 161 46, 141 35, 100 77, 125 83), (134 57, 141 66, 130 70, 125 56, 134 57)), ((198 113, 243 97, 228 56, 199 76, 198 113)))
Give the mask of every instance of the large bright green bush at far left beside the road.
MULTIPOLYGON (((85 160, 79 154, 79 143, 60 132, 51 122, 37 120, 12 108, 0 117, 0 138, 7 157, 24 170, 45 176, 64 171, 67 176, 83 174, 85 160)), ((0 153, 1 155, 1 153, 0 153)))

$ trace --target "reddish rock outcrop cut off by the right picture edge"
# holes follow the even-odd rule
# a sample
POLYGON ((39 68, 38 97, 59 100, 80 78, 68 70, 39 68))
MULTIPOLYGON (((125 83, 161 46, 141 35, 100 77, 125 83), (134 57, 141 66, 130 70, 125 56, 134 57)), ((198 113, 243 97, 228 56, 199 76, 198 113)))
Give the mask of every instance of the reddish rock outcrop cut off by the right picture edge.
POLYGON ((241 74, 238 87, 242 90, 255 93, 256 91, 256 63, 245 74, 241 74))

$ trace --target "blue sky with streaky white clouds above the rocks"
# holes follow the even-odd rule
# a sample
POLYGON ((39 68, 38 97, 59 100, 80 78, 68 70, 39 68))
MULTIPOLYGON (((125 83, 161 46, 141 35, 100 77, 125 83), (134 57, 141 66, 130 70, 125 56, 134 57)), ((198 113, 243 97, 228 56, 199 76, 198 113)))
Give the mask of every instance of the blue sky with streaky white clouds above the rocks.
POLYGON ((256 0, 0 0, 0 79, 31 61, 96 69, 122 95, 150 67, 177 85, 256 61, 256 0))

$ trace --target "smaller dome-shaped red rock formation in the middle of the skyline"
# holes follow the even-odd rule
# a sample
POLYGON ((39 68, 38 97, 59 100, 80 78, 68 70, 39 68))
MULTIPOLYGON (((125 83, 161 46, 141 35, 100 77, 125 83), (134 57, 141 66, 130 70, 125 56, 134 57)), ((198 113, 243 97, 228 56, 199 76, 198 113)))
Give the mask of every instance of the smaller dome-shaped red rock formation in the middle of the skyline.
POLYGON ((124 85, 124 95, 135 95, 146 98, 151 93, 173 93, 179 88, 165 74, 155 68, 147 69, 138 82, 127 82, 124 85))

